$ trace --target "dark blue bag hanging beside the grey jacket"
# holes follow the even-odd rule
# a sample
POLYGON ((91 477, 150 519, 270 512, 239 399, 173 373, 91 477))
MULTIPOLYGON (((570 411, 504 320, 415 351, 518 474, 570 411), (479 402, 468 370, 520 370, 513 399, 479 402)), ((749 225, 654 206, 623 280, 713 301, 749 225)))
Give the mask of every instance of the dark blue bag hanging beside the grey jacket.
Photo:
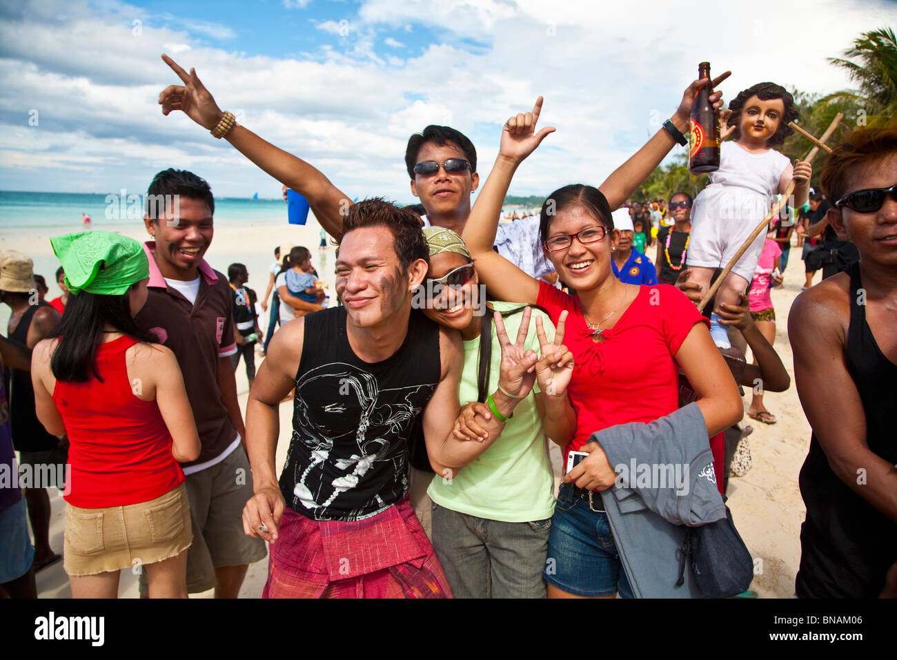
POLYGON ((689 527, 679 550, 679 579, 685 580, 685 565, 692 569, 695 585, 704 598, 728 598, 747 591, 753 580, 753 559, 732 521, 726 517, 715 523, 689 527))

